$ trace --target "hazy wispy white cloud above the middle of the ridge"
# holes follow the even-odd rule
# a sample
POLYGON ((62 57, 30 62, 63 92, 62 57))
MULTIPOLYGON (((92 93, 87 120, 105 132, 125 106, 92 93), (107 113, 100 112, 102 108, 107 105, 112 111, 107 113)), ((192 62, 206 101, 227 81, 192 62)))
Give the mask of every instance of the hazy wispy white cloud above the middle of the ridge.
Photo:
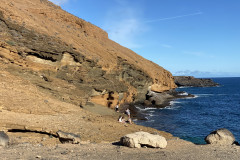
POLYGON ((111 8, 102 28, 108 32, 109 38, 130 49, 139 48, 138 36, 146 31, 141 23, 139 8, 131 7, 129 1, 115 0, 116 7, 111 8))

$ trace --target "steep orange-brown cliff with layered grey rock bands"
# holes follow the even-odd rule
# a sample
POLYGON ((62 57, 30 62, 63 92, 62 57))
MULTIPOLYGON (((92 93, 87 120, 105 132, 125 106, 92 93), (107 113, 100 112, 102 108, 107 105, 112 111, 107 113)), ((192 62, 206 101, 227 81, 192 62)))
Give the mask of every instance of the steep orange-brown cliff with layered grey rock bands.
POLYGON ((157 64, 108 39, 97 26, 47 0, 1 0, 0 62, 43 93, 108 107, 176 88, 157 64))

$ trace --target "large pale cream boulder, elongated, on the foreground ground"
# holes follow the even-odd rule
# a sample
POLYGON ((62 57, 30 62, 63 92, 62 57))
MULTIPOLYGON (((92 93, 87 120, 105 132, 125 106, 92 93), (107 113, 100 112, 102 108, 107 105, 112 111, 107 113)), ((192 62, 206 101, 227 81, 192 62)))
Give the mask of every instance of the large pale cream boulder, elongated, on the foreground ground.
POLYGON ((121 144, 130 148, 141 148, 141 146, 153 148, 166 148, 167 141, 160 135, 153 135, 147 132, 136 132, 123 136, 121 144))

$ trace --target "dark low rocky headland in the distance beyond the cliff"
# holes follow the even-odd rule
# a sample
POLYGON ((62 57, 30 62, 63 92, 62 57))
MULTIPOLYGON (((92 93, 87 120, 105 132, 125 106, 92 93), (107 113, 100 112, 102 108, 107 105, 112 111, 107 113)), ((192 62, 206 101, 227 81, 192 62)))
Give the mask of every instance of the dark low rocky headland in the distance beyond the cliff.
POLYGON ((219 85, 212 79, 194 78, 192 76, 174 76, 174 79, 178 87, 214 87, 219 85))

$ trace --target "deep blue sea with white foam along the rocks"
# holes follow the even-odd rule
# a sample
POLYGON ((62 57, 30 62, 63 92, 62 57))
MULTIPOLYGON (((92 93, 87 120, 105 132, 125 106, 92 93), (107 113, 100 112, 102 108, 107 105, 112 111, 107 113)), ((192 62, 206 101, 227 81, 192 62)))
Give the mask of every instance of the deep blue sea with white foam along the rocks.
MULTIPOLYGON (((178 88, 196 95, 178 99, 164 109, 142 109, 147 121, 135 123, 167 131, 196 144, 219 128, 230 130, 240 142, 240 78, 213 78, 218 87, 178 88)), ((139 106, 141 108, 141 106, 139 106)))

